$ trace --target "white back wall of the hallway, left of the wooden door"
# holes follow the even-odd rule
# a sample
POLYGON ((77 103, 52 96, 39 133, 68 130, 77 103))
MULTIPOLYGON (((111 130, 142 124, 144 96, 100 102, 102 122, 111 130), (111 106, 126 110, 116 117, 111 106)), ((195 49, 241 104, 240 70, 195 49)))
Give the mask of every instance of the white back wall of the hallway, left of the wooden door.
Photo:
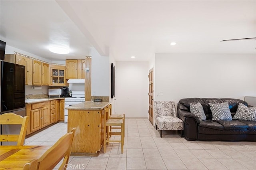
POLYGON ((148 117, 148 62, 116 61, 116 111, 148 117))

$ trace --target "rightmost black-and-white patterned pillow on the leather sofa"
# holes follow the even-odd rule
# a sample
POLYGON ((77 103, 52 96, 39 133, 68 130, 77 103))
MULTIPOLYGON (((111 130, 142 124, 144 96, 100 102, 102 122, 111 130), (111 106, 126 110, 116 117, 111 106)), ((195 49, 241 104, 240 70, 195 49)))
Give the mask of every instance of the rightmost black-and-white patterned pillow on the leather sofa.
POLYGON ((248 108, 246 105, 239 103, 233 119, 256 121, 256 106, 248 108))

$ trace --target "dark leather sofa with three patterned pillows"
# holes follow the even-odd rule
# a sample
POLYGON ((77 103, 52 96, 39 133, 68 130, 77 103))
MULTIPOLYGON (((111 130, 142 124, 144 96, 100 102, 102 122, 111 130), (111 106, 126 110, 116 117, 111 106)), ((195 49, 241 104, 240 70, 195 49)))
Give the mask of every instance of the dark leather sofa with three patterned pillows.
POLYGON ((186 140, 231 140, 256 141, 256 121, 219 120, 212 121, 212 112, 208 103, 224 103, 228 101, 232 117, 235 115, 239 103, 248 106, 240 99, 216 98, 187 98, 178 103, 178 118, 184 122, 184 137, 186 140), (206 115, 205 121, 190 113, 190 103, 200 102, 206 115))

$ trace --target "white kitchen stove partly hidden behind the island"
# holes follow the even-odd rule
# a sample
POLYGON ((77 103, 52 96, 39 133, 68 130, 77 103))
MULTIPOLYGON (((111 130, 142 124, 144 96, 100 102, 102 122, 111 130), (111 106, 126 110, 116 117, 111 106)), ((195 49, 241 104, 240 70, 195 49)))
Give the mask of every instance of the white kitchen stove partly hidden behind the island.
MULTIPOLYGON (((72 91, 72 97, 65 98, 65 108, 84 102, 84 91, 72 91)), ((64 123, 68 123, 68 110, 64 111, 64 123)))

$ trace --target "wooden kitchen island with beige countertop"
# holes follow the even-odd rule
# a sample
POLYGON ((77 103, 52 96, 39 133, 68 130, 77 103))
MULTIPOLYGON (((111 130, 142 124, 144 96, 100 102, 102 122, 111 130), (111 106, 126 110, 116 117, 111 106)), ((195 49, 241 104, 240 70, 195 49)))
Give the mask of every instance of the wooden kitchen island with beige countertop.
POLYGON ((85 101, 65 108, 68 109, 68 132, 76 127, 71 156, 98 156, 104 140, 104 108, 109 104, 85 101))

